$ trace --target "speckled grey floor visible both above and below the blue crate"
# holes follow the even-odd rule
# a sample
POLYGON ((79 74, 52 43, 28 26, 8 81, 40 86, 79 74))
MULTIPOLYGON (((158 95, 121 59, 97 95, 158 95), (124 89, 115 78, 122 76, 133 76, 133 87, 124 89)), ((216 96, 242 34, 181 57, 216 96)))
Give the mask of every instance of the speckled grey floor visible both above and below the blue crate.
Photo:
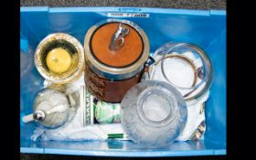
MULTIPOLYGON (((184 9, 226 9, 226 0, 20 0, 20 6, 140 6, 140 7, 165 7, 165 8, 184 8, 184 9)), ((80 160, 80 159, 121 159, 112 157, 91 157, 91 156, 72 156, 72 155, 37 155, 20 154, 21 160, 80 160)), ((128 158, 126 158, 128 159, 128 158)), ((175 159, 192 159, 198 157, 175 157, 175 159)), ((223 156, 203 156, 201 159, 226 159, 223 156)))

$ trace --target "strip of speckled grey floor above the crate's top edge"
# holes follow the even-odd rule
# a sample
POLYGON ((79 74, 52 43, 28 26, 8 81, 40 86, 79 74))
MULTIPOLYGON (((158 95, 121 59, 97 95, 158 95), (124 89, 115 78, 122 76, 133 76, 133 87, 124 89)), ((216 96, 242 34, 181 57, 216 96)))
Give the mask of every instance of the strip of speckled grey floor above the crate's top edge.
POLYGON ((21 6, 144 6, 187 9, 226 9, 226 0, 21 0, 21 6))

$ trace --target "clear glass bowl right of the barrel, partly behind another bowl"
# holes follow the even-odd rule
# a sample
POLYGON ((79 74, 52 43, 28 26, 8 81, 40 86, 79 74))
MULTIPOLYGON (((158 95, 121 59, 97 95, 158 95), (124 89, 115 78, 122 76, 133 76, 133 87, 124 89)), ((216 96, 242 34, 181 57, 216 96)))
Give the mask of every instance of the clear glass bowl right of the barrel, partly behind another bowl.
POLYGON ((212 63, 207 54, 188 43, 166 43, 153 56, 149 80, 162 80, 176 87, 186 101, 195 101, 207 93, 212 77, 212 63))

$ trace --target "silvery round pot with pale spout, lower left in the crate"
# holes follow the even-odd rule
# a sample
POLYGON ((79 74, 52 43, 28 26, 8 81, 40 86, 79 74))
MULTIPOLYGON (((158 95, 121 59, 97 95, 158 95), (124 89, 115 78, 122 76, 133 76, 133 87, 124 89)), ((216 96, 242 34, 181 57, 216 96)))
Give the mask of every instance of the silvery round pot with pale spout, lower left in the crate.
POLYGON ((47 88, 38 92, 33 113, 24 116, 22 121, 36 121, 45 127, 56 128, 69 120, 71 107, 65 93, 47 88))

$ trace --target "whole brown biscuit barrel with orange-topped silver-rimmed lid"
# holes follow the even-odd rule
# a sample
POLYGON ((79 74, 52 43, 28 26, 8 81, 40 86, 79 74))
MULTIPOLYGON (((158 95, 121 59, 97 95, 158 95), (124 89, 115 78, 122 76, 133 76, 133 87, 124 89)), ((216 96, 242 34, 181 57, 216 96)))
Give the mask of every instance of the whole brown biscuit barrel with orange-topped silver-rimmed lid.
POLYGON ((137 84, 149 57, 144 31, 131 21, 108 19, 91 27, 85 43, 85 83, 101 101, 121 102, 137 84))

